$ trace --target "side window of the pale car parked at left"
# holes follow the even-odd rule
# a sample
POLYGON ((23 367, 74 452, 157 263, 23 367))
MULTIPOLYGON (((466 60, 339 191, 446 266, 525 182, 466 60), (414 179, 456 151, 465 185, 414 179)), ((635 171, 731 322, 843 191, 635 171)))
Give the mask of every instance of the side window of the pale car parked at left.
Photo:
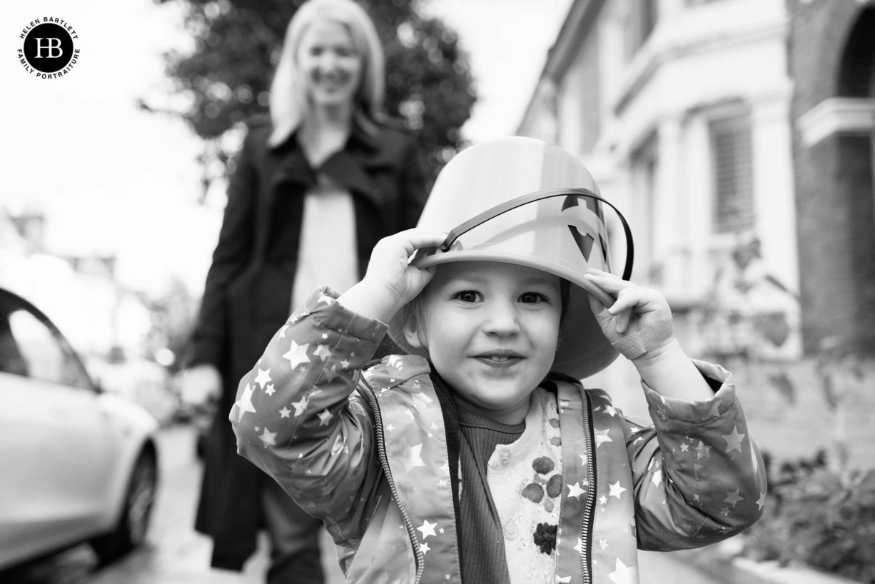
POLYGON ((82 388, 92 386, 66 340, 27 306, 5 295, 0 296, 0 371, 82 388))

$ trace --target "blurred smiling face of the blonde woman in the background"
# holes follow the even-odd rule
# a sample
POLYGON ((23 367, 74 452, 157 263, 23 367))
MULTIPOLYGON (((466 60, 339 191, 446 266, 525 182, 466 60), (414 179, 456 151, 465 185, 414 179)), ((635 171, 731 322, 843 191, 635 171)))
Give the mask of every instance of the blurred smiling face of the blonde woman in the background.
POLYGON ((297 64, 314 106, 353 103, 361 83, 361 55, 345 25, 322 20, 308 26, 297 47, 297 64))

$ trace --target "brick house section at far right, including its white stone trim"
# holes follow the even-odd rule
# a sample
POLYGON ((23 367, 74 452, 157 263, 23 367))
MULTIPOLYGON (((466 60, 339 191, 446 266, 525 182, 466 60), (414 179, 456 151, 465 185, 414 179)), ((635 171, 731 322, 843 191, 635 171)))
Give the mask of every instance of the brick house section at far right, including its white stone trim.
POLYGON ((875 4, 788 0, 802 337, 875 356, 875 4))

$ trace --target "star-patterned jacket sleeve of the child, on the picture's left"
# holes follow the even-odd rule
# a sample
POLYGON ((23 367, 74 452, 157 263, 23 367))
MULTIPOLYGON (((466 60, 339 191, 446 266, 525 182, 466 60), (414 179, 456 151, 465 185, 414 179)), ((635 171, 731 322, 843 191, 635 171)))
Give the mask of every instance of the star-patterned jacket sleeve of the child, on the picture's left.
POLYGON ((360 538, 381 468, 369 405, 354 392, 386 332, 319 288, 243 376, 229 419, 237 452, 272 476, 338 543, 360 538))

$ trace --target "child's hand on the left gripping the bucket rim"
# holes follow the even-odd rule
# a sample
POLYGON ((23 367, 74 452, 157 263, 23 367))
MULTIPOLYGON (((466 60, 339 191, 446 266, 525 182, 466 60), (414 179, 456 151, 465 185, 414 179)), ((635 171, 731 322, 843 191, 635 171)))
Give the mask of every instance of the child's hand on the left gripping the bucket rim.
POLYGON ((371 251, 367 272, 338 299, 339 303, 369 318, 388 322, 399 308, 416 298, 433 272, 409 264, 413 252, 444 243, 446 231, 407 229, 383 237, 371 251))

